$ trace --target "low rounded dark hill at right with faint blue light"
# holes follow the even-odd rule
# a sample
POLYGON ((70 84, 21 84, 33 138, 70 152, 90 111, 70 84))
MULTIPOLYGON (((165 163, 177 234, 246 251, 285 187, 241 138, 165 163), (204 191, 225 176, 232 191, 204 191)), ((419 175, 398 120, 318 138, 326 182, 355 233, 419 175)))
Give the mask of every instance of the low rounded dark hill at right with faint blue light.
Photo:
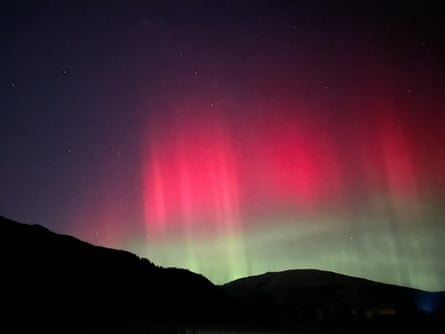
POLYGON ((288 270, 223 286, 232 296, 274 304, 286 321, 438 319, 444 293, 425 292, 320 270, 288 270))

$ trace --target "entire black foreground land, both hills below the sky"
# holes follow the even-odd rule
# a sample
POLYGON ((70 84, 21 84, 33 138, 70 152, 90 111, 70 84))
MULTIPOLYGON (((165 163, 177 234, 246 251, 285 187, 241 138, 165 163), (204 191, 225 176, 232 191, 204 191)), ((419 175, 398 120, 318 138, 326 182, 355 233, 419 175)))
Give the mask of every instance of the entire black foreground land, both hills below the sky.
POLYGON ((0 217, 0 331, 442 332, 445 294, 318 270, 215 286, 183 269, 0 217))

